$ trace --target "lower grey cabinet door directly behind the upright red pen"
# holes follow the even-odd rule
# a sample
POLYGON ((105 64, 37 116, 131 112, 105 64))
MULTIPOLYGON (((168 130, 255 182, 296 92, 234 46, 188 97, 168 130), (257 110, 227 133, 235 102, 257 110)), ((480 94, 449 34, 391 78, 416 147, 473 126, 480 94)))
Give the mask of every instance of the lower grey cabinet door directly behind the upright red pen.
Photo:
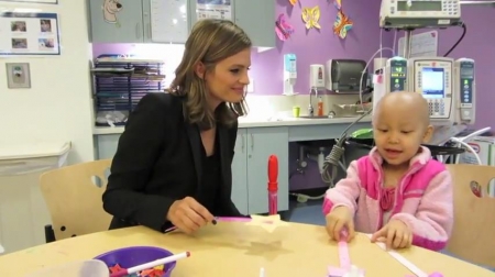
POLYGON ((288 210, 288 129, 248 130, 248 206, 250 214, 268 212, 268 157, 278 158, 278 210, 288 210))

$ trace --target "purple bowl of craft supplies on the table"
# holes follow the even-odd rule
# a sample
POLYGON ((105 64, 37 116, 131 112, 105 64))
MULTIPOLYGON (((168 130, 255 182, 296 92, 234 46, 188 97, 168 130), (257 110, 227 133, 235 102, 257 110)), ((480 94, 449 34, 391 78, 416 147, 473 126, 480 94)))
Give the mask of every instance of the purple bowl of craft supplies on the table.
MULTIPOLYGON (((144 263, 150 263, 158 258, 174 255, 172 252, 153 246, 132 246, 119 248, 103 253, 94 259, 99 259, 107 264, 108 267, 119 264, 123 268, 130 268, 144 263)), ((176 262, 165 265, 165 273, 162 277, 170 277, 172 270, 175 268, 176 262)))

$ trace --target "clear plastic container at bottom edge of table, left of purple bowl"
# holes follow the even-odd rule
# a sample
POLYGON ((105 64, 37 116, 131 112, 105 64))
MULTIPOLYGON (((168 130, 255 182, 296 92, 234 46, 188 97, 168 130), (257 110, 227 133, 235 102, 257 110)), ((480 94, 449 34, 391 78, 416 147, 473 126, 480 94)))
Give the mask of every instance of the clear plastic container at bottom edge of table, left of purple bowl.
POLYGON ((108 267, 101 261, 78 261, 47 267, 25 277, 108 277, 108 267))

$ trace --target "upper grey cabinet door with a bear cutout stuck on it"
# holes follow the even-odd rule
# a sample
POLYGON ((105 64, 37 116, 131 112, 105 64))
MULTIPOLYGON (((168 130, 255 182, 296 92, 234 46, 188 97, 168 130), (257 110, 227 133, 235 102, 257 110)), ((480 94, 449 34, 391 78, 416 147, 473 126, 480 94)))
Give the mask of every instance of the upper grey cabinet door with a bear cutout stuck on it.
POLYGON ((143 43, 143 0, 90 0, 92 43, 143 43))

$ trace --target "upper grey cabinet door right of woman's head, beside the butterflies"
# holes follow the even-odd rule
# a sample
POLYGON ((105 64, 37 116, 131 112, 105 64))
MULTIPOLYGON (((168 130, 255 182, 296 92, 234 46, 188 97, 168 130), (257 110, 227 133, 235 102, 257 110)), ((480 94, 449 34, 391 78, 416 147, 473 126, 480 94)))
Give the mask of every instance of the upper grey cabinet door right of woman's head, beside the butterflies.
POLYGON ((233 0, 235 23, 256 47, 275 47, 275 0, 233 0))

